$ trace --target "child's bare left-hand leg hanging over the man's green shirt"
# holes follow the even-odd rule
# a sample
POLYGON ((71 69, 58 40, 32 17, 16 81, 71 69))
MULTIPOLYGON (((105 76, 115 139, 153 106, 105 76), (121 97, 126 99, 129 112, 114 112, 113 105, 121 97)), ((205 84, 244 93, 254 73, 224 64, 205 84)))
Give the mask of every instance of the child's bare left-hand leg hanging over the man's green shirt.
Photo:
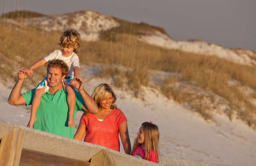
POLYGON ((31 106, 30 119, 29 119, 29 122, 27 125, 27 127, 29 127, 29 128, 33 128, 33 124, 36 122, 36 111, 41 103, 41 97, 44 94, 44 89, 45 89, 45 87, 36 89, 36 91, 35 91, 35 95, 34 95, 34 98, 32 101, 32 106, 31 106))

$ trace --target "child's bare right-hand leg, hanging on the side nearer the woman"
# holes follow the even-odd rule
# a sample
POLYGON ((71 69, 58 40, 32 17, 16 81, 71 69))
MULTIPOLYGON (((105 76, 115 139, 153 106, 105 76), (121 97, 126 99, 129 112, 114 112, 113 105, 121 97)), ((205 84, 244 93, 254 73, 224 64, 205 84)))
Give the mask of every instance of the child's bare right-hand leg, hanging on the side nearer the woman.
POLYGON ((72 85, 65 84, 64 88, 68 92, 67 102, 68 102, 68 126, 74 126, 74 109, 76 104, 76 94, 75 94, 75 87, 72 85))

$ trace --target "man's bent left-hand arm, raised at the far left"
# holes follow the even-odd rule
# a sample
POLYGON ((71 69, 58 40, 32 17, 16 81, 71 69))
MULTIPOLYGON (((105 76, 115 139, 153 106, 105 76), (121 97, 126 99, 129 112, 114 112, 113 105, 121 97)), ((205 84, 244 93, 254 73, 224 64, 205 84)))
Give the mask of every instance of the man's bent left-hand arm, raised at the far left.
POLYGON ((20 72, 18 73, 18 80, 14 87, 12 88, 11 94, 8 99, 8 103, 11 105, 26 105, 26 101, 22 94, 20 94, 20 90, 22 87, 22 84, 24 80, 28 77, 27 74, 28 69, 21 69, 20 72))

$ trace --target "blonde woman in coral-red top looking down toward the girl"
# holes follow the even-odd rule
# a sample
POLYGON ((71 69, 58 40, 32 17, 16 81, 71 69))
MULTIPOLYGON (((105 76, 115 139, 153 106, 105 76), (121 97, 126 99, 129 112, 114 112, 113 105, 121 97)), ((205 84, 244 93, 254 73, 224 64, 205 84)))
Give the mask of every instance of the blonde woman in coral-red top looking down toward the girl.
POLYGON ((100 84, 94 88, 92 98, 98 104, 99 112, 82 115, 74 139, 82 140, 85 134, 84 142, 120 151, 119 133, 124 152, 130 154, 131 142, 127 119, 115 105, 116 94, 114 91, 108 84, 100 84))

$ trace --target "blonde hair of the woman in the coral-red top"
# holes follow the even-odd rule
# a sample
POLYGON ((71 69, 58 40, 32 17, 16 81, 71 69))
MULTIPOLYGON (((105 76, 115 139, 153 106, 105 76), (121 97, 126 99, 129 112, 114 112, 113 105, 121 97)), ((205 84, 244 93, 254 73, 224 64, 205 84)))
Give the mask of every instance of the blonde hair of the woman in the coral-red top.
POLYGON ((110 106, 111 109, 114 109, 117 107, 114 103, 116 102, 116 94, 114 91, 111 89, 111 87, 108 84, 100 84, 97 87, 94 88, 92 92, 92 99, 95 100, 95 102, 100 105, 100 102, 105 100, 108 95, 112 93, 113 96, 113 102, 110 106))

